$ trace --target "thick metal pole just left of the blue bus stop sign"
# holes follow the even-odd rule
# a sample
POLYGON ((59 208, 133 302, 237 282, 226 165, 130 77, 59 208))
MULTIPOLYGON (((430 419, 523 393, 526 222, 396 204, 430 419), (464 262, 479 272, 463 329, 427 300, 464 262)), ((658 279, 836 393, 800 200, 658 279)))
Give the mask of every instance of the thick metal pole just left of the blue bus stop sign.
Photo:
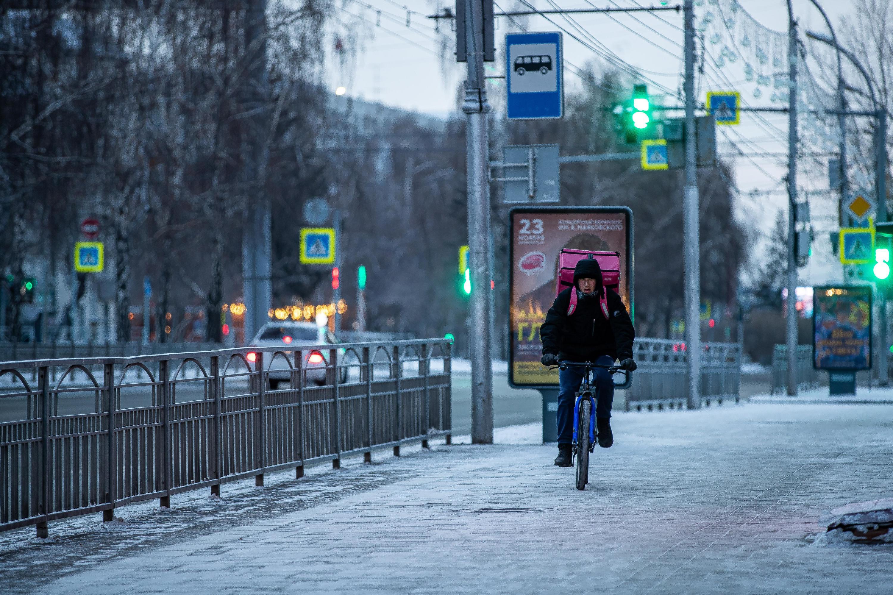
POLYGON ((483 6, 465 3, 468 80, 462 111, 467 116, 468 245, 472 295, 469 343, 472 360, 472 443, 493 442, 493 388, 490 364, 490 197, 487 169, 487 89, 484 88, 483 6))

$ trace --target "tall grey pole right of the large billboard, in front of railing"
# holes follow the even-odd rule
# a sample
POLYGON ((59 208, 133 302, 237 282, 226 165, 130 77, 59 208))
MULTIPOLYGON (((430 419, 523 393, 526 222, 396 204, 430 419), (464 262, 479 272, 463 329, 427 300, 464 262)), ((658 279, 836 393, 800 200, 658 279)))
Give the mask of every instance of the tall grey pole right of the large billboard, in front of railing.
POLYGON ((685 343, 689 409, 701 406, 701 263, 695 132, 695 6, 685 0, 685 189, 682 214, 685 255, 685 343))

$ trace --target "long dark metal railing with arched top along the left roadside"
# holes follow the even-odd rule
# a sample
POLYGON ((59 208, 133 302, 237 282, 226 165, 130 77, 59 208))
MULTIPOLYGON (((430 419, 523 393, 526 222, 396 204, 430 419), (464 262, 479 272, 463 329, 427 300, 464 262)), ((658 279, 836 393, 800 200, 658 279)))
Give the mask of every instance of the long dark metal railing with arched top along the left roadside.
POLYGON ((288 349, 0 363, 0 531, 449 440, 447 339, 288 349))

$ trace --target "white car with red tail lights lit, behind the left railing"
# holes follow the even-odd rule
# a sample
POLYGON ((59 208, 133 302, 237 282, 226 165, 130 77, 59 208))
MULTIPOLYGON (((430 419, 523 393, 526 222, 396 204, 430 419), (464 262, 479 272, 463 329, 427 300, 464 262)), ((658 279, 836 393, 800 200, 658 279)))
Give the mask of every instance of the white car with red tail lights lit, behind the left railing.
MULTIPOLYGON (((279 347, 290 357, 293 357, 293 348, 303 345, 334 345, 338 343, 338 339, 331 331, 322 331, 314 323, 293 323, 293 322, 276 322, 266 323, 257 331, 255 339, 251 341, 251 347, 279 347), (292 349, 289 349, 292 348, 292 349)), ((340 349, 343 351, 343 349, 340 349)), ((309 384, 326 383, 326 366, 330 357, 330 352, 321 353, 316 349, 306 350, 302 352, 304 356, 304 369, 306 373, 306 382, 309 384)), ((340 354, 339 354, 340 355, 340 354)), ((264 367, 270 371, 268 378, 270 379, 270 390, 277 390, 280 382, 290 381, 291 371, 282 356, 276 357, 269 363, 273 356, 271 352, 265 352, 264 367)), ((248 354, 248 360, 254 362, 256 356, 253 353, 248 354)), ((294 362, 292 362, 294 363, 294 362)), ((340 382, 346 381, 347 371, 341 370, 340 382)))

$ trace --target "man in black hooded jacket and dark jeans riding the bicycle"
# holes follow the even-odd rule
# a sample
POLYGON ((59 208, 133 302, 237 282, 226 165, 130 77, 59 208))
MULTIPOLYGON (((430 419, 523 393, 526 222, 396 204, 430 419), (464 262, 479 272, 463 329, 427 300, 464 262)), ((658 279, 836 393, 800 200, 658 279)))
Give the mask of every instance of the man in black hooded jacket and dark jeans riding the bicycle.
MULTIPOLYGON (((613 365, 621 360, 621 367, 630 372, 636 369, 632 359, 632 328, 626 306, 613 290, 602 283, 602 269, 595 258, 584 258, 573 270, 573 287, 564 289, 549 308, 546 322, 539 329, 543 341, 543 365, 557 365, 560 360, 613 365), (605 291, 606 308, 600 303, 605 291), (577 306, 568 314, 571 292, 577 291, 577 306)), ((596 423, 598 446, 613 444, 611 432, 611 404, 613 380, 605 368, 593 369, 598 390, 596 423)), ((583 368, 569 367, 558 374, 558 457, 555 465, 571 466, 573 436, 573 407, 576 392, 583 381, 583 368)))

